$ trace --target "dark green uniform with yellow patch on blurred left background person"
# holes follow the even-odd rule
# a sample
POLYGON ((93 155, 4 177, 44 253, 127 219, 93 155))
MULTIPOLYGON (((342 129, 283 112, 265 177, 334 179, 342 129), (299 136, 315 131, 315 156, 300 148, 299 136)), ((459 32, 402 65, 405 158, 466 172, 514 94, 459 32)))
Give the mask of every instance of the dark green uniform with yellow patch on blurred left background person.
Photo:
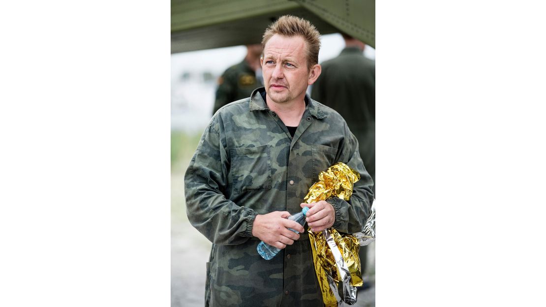
POLYGON ((218 80, 212 114, 230 102, 250 97, 252 91, 260 86, 262 83, 245 60, 228 68, 218 80))

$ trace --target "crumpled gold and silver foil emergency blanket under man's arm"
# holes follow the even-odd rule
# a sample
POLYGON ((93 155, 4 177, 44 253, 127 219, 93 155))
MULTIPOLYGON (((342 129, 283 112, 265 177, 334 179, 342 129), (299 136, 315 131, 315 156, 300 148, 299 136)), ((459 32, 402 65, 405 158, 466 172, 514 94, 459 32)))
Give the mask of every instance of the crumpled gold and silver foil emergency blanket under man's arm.
MULTIPOLYGON (((336 163, 318 175, 304 201, 307 204, 339 197, 349 200, 354 182, 360 174, 344 163, 336 163)), ((313 252, 314 268, 321 287, 324 305, 352 305, 357 301, 357 288, 362 285, 359 239, 351 234, 340 234, 334 228, 313 233, 307 229, 313 252)))

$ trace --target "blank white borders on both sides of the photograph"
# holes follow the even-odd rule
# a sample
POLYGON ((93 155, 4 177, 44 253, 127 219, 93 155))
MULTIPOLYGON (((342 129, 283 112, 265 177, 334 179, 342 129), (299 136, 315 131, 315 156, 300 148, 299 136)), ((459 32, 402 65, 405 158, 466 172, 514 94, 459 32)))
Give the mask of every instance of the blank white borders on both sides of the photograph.
MULTIPOLYGON (((377 306, 544 303, 535 3, 377 2, 377 306)), ((168 2, 0 12, 0 305, 169 305, 168 2)))

